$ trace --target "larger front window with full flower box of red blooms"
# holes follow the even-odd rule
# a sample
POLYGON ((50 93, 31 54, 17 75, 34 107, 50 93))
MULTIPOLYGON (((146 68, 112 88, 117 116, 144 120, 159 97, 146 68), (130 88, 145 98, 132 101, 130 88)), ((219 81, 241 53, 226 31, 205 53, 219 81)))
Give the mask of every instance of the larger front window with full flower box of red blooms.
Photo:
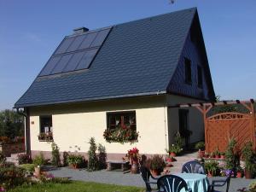
POLYGON ((108 142, 124 143, 137 140, 135 111, 107 113, 107 126, 103 136, 108 142))

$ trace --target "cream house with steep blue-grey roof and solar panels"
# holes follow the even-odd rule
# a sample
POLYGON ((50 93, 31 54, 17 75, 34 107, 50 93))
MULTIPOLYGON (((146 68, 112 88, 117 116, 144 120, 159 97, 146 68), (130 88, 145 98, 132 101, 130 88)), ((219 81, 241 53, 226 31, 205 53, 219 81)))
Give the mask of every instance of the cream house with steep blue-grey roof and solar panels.
POLYGON ((192 132, 187 144, 201 140, 201 113, 168 106, 214 100, 193 8, 75 29, 15 108, 24 108, 28 153, 50 154, 53 140, 61 152, 86 154, 95 137, 113 159, 134 146, 143 154, 165 154, 177 131, 192 132))

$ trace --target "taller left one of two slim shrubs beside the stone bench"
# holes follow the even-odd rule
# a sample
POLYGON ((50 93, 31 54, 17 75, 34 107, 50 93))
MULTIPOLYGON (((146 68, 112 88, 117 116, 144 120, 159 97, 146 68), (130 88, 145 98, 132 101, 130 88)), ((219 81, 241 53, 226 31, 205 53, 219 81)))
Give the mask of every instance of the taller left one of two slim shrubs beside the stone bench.
POLYGON ((90 138, 90 149, 88 151, 88 156, 89 156, 89 160, 88 160, 88 171, 89 172, 93 172, 98 170, 98 159, 97 159, 97 155, 96 155, 96 142, 95 142, 95 138, 91 137, 90 138))

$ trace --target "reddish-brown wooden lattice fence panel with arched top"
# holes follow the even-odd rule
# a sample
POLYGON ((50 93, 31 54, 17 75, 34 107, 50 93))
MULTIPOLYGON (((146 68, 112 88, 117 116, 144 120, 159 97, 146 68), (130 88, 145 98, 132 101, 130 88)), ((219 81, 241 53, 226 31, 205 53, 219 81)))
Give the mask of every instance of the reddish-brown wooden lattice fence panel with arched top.
POLYGON ((241 148, 247 141, 255 146, 255 128, 253 115, 247 113, 218 113, 206 119, 206 150, 213 152, 217 148, 224 152, 230 138, 235 138, 241 148))

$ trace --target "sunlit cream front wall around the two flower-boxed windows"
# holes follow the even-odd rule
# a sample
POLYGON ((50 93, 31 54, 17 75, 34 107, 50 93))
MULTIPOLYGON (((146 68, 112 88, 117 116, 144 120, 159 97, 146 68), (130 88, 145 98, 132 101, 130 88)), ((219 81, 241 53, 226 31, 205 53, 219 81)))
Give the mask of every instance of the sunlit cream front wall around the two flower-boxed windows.
POLYGON ((51 150, 50 143, 38 141, 39 115, 45 114, 52 114, 54 141, 61 151, 87 152, 90 137, 113 154, 125 154, 133 147, 143 154, 165 154, 168 146, 166 96, 30 108, 30 113, 32 151, 51 150), (136 111, 138 143, 107 143, 102 136, 107 128, 106 113, 122 110, 136 111))

